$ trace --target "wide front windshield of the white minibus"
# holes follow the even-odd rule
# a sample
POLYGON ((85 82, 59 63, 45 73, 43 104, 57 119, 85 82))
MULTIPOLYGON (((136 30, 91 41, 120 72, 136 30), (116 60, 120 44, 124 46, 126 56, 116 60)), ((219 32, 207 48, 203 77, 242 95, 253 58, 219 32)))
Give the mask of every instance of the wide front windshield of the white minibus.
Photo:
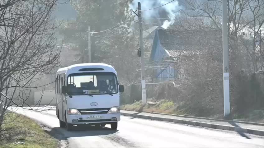
POLYGON ((67 78, 68 95, 118 93, 117 77, 112 72, 74 73, 67 78))

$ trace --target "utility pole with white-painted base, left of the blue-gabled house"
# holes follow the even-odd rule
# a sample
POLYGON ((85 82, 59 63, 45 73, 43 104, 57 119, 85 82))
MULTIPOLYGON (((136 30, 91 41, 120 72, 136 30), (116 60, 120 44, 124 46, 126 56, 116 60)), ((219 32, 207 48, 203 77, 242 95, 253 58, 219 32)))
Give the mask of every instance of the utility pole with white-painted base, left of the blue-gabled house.
POLYGON ((139 11, 139 50, 140 50, 140 66, 141 66, 141 90, 142 90, 142 103, 143 106, 147 104, 146 99, 146 82, 145 82, 145 63, 144 63, 144 48, 143 48, 143 28, 142 28, 142 13, 141 4, 138 2, 139 11))

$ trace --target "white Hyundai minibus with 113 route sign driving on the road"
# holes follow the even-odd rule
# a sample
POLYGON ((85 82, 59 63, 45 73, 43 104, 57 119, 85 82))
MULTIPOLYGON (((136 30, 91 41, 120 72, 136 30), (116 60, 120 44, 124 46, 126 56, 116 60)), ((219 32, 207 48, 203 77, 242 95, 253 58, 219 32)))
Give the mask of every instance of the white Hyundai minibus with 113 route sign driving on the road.
POLYGON ((60 127, 71 131, 73 126, 81 124, 97 127, 110 124, 111 129, 117 129, 119 97, 124 86, 119 85, 113 66, 83 63, 60 68, 55 83, 60 127))

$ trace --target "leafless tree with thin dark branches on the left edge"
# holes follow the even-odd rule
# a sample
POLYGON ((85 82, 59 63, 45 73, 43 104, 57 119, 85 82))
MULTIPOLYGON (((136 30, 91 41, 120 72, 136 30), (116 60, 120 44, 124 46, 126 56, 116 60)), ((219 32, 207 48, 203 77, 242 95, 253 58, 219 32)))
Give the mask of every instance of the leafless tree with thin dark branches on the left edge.
POLYGON ((7 109, 28 106, 29 89, 43 86, 36 81, 59 64, 51 18, 57 1, 0 2, 0 131, 7 109))

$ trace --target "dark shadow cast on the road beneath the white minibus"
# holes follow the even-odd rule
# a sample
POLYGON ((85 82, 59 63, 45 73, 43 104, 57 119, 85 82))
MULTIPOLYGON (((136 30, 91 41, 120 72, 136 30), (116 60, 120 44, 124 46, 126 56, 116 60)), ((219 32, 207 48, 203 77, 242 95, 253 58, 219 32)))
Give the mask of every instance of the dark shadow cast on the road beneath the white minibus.
POLYGON ((54 127, 51 131, 45 132, 58 140, 66 140, 70 137, 102 136, 119 133, 118 130, 111 130, 111 128, 108 127, 96 128, 93 126, 73 127, 73 131, 67 131, 66 128, 54 127))

